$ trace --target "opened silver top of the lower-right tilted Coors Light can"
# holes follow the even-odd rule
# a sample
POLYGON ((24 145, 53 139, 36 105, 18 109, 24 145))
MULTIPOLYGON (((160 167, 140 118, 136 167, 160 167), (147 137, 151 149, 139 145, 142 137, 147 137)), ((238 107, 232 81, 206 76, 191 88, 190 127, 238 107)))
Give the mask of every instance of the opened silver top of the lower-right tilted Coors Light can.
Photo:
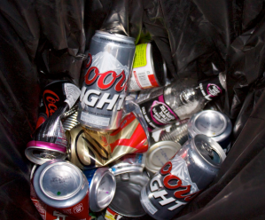
POLYGON ((206 135, 196 135, 191 140, 200 156, 214 167, 220 167, 222 161, 226 158, 222 147, 206 135))

